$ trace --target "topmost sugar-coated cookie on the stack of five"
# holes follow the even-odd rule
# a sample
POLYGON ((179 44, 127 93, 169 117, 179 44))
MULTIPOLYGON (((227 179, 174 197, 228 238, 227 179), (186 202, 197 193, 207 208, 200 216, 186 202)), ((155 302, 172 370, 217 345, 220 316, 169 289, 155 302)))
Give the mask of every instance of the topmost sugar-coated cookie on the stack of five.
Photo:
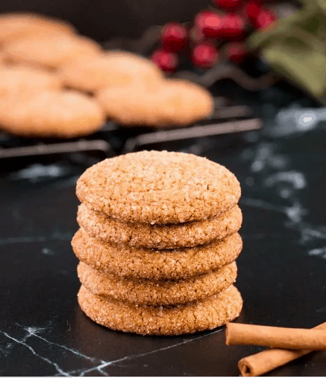
POLYGON ((236 176, 207 158, 182 152, 141 151, 86 169, 77 197, 122 222, 168 224, 205 220, 235 206, 236 176))

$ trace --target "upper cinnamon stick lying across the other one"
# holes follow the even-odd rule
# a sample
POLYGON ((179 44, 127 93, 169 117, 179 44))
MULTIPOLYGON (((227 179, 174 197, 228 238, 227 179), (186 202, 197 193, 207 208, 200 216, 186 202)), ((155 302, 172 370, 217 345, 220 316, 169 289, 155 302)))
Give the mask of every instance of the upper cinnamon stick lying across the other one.
POLYGON ((322 329, 268 327, 229 323, 226 344, 273 346, 281 349, 326 349, 326 332, 322 329))

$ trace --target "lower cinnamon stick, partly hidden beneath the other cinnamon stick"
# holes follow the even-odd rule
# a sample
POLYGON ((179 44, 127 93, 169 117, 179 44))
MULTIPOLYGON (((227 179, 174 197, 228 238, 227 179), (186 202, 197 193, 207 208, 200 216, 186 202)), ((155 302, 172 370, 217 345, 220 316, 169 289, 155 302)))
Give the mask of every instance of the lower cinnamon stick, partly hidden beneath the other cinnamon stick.
MULTIPOLYGON (((319 324, 313 329, 326 330, 326 322, 319 324)), ((266 349, 266 351, 240 359, 238 368, 242 377, 259 377, 310 352, 312 350, 288 351, 286 349, 266 349)))

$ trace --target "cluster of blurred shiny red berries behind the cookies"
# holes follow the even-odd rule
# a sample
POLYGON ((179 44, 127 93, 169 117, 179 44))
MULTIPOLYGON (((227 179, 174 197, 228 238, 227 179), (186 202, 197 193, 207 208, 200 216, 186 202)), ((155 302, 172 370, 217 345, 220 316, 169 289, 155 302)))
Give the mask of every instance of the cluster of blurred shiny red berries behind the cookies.
POLYGON ((168 23, 162 28, 160 47, 151 60, 167 73, 190 58, 195 67, 209 69, 221 55, 240 63, 247 56, 244 38, 253 29, 266 29, 277 17, 259 0, 212 0, 216 10, 203 10, 190 25, 168 23))

